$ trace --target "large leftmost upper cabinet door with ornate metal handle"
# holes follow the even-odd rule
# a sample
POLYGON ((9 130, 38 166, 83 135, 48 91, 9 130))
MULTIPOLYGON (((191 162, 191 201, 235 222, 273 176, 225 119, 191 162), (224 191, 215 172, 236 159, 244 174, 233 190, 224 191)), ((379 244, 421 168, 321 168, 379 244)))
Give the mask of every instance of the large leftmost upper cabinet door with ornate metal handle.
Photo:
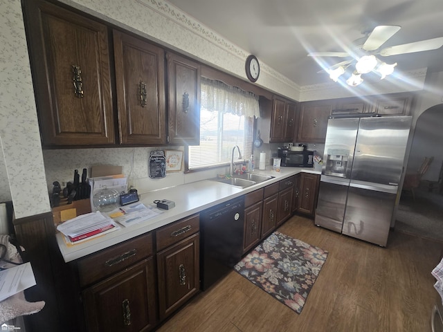
POLYGON ((115 142, 107 27, 44 1, 25 1, 44 146, 115 142))

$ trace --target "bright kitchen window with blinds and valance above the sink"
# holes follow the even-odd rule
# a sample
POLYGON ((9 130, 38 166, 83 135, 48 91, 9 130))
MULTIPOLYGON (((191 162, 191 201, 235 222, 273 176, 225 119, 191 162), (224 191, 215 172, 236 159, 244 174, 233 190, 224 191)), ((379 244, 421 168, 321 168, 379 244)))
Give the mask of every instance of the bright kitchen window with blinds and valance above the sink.
POLYGON ((188 169, 228 165, 235 145, 242 158, 251 157, 259 114, 253 93, 201 77, 200 145, 188 147, 188 169))

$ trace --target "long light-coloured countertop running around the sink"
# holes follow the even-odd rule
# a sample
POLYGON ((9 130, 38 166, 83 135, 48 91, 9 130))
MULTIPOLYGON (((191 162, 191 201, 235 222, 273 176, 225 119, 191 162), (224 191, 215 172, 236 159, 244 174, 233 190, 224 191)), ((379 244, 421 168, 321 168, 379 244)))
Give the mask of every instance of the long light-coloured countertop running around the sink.
POLYGON ((156 228, 168 225, 168 223, 173 223, 174 221, 190 216, 191 214, 201 212, 202 210, 211 208, 219 203, 224 203, 225 201, 235 199, 248 192, 253 192, 261 187, 265 187, 266 185, 278 182, 300 172, 320 174, 320 172, 315 169, 303 169, 299 167, 282 167, 280 172, 276 172, 273 169, 266 169, 264 171, 256 169, 254 170, 255 174, 270 175, 274 176, 274 178, 251 185, 244 189, 219 183, 217 181, 202 180, 161 190, 154 190, 142 194, 140 202, 145 205, 150 205, 157 199, 168 199, 175 202, 175 207, 171 210, 165 210, 162 214, 154 216, 152 219, 148 219, 142 223, 131 225, 129 227, 122 227, 115 232, 73 246, 67 246, 62 234, 58 233, 56 235, 57 243, 60 252, 62 252, 64 261, 73 261, 93 252, 97 252, 98 250, 114 246, 117 243, 150 232, 156 228))

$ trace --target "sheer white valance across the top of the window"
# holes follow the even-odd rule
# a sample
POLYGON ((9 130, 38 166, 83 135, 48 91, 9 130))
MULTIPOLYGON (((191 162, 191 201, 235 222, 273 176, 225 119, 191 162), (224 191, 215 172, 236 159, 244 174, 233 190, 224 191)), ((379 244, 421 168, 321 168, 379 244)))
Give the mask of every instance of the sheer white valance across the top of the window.
POLYGON ((201 107, 208 111, 259 118, 258 97, 223 82, 201 77, 201 107))

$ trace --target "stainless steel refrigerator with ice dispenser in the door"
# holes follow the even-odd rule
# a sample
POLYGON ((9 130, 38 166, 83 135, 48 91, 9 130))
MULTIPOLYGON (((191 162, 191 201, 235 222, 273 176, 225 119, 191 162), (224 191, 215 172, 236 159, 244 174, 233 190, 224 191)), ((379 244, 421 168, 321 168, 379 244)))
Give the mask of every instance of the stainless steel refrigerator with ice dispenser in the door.
POLYGON ((330 118, 316 225, 386 246, 412 118, 330 118))

